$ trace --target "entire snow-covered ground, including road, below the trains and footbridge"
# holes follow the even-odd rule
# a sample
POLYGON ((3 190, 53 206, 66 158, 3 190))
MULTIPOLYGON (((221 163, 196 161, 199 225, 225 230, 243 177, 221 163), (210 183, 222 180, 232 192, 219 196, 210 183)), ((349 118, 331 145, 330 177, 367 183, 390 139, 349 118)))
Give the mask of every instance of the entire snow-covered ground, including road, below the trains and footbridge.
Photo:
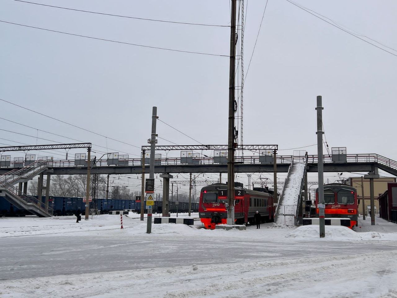
POLYGON ((130 216, 123 230, 117 215, 1 218, 0 297, 397 297, 397 224, 379 218, 320 239, 272 224, 146 234, 130 216))

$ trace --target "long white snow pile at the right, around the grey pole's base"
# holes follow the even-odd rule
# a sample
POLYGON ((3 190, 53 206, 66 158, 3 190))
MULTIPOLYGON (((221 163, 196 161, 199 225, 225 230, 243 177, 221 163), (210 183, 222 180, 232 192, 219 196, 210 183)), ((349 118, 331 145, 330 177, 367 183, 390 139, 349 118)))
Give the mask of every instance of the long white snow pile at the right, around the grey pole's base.
POLYGON ((345 226, 325 226, 325 238, 320 238, 320 226, 313 224, 300 226, 285 235, 286 238, 297 240, 328 240, 328 241, 361 241, 361 240, 389 240, 396 241, 397 233, 365 232, 358 233, 345 226))

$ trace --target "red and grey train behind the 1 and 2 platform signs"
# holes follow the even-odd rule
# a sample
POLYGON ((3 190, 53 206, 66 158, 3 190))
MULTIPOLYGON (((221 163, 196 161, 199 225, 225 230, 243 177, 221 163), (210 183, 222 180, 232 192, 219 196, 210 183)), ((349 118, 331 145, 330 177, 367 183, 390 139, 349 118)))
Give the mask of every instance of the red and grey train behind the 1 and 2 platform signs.
MULTIPOLYGON (((236 224, 254 222, 255 211, 262 216, 262 223, 274 221, 274 196, 265 188, 247 190, 243 184, 235 183, 235 192, 243 191, 243 196, 235 199, 234 218, 236 224)), ((227 184, 211 184, 204 186, 200 192, 198 214, 205 228, 214 229, 217 224, 225 224, 227 219, 226 204, 228 199, 221 196, 222 190, 227 193, 227 184)))

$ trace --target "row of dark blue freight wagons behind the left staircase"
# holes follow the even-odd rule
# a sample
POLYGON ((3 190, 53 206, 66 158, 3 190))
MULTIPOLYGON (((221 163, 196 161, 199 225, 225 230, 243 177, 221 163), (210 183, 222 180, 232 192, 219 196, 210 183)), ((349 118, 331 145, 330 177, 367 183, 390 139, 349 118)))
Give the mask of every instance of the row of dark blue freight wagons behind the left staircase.
MULTIPOLYGON (((37 196, 36 196, 37 197, 37 196)), ((45 197, 42 197, 42 202, 44 203, 45 197)), ((154 206, 152 207, 153 213, 162 212, 162 201, 154 201, 154 206)), ((53 210, 54 216, 60 215, 74 215, 75 212, 80 209, 81 213, 85 214, 85 202, 83 203, 83 198, 81 197, 55 197, 50 196, 48 200, 48 206, 53 210)), ((144 203, 146 208, 146 203, 144 203)), ((188 212, 189 203, 188 202, 170 202, 169 203, 170 213, 176 213, 177 211, 188 212)), ((141 212, 141 202, 136 202, 135 200, 119 200, 119 199, 93 199, 90 203, 90 209, 98 209, 101 214, 108 213, 111 210, 123 210, 123 209, 133 209, 135 212, 141 212)), ((191 210, 193 212, 198 212, 198 203, 191 203, 191 210)), ((146 213, 146 209, 145 209, 146 213)), ((32 215, 29 211, 18 209, 8 202, 3 197, 0 197, 0 217, 2 216, 25 216, 32 215)))

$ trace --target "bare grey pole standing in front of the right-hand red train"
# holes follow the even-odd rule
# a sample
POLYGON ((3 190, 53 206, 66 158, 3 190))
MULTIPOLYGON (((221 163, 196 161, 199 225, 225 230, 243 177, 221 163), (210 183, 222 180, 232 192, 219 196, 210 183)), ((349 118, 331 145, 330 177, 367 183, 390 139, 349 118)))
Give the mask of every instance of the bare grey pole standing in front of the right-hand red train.
POLYGON ((324 165, 322 152, 322 97, 317 96, 317 155, 318 155, 318 217, 320 218, 320 238, 325 237, 325 204, 324 204, 324 165), (321 208, 320 208, 321 207, 321 208))

